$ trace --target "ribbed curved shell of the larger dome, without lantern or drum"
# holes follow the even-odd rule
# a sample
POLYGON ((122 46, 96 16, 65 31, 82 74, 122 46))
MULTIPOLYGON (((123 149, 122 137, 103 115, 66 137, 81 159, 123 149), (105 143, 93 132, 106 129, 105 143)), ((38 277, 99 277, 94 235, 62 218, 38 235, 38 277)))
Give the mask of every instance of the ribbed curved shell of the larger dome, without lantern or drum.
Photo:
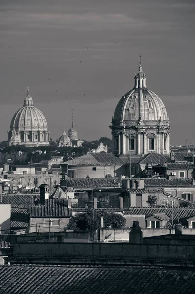
POLYGON ((147 88, 134 88, 126 93, 117 104, 114 121, 169 121, 161 99, 147 88))

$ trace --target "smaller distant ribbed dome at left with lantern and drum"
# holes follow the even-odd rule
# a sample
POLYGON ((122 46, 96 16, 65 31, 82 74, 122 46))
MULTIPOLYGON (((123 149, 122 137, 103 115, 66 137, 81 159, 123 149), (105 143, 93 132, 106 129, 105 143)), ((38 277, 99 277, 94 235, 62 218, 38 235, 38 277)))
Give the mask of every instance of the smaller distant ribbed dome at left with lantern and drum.
POLYGON ((43 113, 33 105, 32 97, 27 95, 24 105, 13 116, 8 131, 9 145, 39 146, 49 145, 49 131, 43 113))

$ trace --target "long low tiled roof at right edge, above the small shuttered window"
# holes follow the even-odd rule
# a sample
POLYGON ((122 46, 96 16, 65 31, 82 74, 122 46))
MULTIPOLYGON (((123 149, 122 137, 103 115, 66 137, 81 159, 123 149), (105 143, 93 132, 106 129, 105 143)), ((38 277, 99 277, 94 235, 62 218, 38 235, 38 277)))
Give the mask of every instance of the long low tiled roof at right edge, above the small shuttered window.
MULTIPOLYGON (((179 186, 179 187, 192 187, 192 179, 171 179, 168 180, 166 178, 140 178, 144 180, 144 187, 171 187, 171 186, 179 186)), ((139 180, 139 178, 133 178, 133 180, 139 180)))

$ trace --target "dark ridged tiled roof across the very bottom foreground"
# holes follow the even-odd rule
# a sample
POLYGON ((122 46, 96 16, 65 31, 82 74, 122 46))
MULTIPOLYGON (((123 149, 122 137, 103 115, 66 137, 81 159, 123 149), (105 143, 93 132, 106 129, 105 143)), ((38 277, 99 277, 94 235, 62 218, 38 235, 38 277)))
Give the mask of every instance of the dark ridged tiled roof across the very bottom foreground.
POLYGON ((195 271, 146 267, 5 265, 2 294, 191 294, 195 271))

